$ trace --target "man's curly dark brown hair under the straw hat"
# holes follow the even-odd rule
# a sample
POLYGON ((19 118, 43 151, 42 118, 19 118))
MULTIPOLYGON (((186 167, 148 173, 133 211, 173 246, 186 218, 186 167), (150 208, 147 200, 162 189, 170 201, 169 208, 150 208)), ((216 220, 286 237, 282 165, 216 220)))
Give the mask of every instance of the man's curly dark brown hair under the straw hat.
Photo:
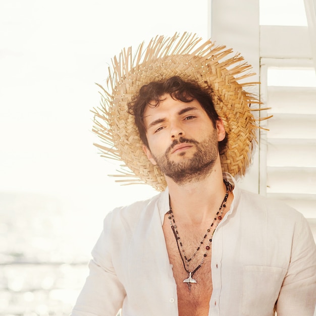
MULTIPOLYGON (((138 95, 134 96, 128 103, 128 113, 134 116, 140 139, 149 148, 143 120, 146 106, 159 107, 161 96, 164 94, 170 94, 172 98, 182 102, 191 102, 196 99, 216 128, 219 115, 214 108, 212 93, 212 87, 202 88, 196 82, 184 81, 179 76, 171 77, 165 81, 152 81, 143 85, 138 95)), ((220 154, 224 153, 227 140, 226 134, 225 138, 219 142, 220 154)))

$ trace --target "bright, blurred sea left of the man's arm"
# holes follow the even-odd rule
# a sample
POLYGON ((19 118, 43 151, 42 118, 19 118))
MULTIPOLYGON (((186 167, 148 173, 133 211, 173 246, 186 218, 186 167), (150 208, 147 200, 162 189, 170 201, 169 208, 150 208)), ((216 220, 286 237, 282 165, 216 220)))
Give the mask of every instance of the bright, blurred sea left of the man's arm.
POLYGON ((71 312, 96 241, 80 213, 54 197, 0 193, 1 316, 71 312))

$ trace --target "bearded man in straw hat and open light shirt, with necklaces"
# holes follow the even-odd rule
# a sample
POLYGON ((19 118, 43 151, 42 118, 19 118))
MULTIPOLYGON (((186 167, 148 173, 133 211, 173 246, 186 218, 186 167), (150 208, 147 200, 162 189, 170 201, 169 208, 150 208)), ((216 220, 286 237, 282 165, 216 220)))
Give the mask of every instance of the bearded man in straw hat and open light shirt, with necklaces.
POLYGON ((198 42, 158 37, 132 64, 130 49, 114 59, 95 110, 98 147, 163 192, 106 217, 74 316, 313 315, 306 220, 233 177, 255 140, 257 101, 235 79, 249 66, 198 42))

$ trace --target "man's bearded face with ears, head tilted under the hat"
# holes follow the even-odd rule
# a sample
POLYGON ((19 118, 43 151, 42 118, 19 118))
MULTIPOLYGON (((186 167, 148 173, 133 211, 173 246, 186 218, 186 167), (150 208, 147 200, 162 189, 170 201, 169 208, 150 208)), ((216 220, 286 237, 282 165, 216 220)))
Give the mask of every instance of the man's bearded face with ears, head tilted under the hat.
POLYGON ((198 101, 181 102, 165 94, 159 107, 146 107, 144 124, 148 159, 176 183, 199 179, 212 171, 225 130, 221 120, 216 129, 213 127, 198 101))

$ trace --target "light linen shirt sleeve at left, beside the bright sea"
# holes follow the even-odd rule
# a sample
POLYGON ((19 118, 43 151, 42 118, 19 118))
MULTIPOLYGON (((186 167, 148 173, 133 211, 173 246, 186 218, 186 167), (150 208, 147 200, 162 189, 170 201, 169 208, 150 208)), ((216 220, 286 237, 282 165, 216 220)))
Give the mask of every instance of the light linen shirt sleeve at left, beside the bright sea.
POLYGON ((112 263, 112 213, 104 219, 103 231, 92 250, 89 276, 71 316, 116 316, 126 296, 112 263))

